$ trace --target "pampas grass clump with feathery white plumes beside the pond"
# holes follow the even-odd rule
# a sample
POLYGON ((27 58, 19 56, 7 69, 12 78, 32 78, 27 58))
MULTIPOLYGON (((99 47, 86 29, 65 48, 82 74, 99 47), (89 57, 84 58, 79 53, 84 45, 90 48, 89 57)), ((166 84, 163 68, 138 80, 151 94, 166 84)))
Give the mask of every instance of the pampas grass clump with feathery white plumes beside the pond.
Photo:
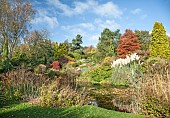
POLYGON ((113 68, 112 81, 115 85, 136 86, 137 76, 142 74, 140 56, 137 53, 113 61, 111 67, 113 68))

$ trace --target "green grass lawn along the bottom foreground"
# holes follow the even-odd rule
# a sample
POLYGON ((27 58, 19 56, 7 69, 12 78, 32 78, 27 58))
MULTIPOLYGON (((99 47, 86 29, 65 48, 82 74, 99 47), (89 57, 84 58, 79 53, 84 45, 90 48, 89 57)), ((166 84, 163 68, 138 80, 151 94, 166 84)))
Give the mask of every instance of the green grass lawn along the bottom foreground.
POLYGON ((18 103, 0 108, 0 118, 143 118, 143 116, 89 105, 54 109, 18 103))

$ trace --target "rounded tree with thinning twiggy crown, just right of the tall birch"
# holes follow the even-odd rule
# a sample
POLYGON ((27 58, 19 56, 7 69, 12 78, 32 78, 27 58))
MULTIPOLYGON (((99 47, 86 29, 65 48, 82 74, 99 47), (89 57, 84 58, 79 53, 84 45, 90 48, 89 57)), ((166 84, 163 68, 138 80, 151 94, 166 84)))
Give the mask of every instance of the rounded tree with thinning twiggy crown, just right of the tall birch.
POLYGON ((35 61, 34 65, 47 64, 53 58, 54 51, 46 30, 32 31, 26 36, 24 42, 29 46, 31 58, 35 61))

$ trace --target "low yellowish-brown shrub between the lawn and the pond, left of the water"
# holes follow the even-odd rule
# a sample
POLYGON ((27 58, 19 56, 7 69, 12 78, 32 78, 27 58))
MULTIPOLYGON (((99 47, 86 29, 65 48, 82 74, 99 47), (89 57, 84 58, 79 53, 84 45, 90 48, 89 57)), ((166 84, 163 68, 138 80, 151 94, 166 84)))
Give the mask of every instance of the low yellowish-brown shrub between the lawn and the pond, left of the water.
POLYGON ((48 86, 41 88, 41 105, 51 107, 66 107, 73 105, 87 104, 87 92, 83 89, 81 92, 70 86, 59 88, 56 81, 48 86))

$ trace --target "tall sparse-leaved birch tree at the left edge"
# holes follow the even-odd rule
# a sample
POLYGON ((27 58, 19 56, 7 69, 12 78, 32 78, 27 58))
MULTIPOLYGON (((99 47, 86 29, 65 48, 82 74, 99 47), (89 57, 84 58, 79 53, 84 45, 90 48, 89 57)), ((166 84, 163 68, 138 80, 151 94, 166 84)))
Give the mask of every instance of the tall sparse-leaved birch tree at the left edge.
POLYGON ((12 54, 14 47, 20 42, 20 37, 28 31, 27 27, 34 13, 30 2, 0 1, 0 35, 3 39, 2 56, 4 59, 12 54))

